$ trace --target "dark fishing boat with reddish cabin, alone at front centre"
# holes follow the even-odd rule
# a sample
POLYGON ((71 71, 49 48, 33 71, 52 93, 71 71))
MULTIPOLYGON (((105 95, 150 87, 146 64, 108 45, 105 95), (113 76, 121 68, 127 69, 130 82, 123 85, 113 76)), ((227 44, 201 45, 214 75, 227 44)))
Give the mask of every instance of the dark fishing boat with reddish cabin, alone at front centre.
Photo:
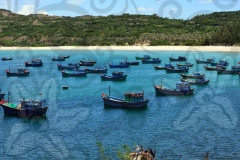
POLYGON ((104 106, 114 107, 114 108, 143 108, 147 107, 149 102, 148 99, 144 99, 144 92, 128 92, 124 94, 125 99, 114 98, 110 96, 110 87, 109 95, 102 94, 102 99, 104 106))

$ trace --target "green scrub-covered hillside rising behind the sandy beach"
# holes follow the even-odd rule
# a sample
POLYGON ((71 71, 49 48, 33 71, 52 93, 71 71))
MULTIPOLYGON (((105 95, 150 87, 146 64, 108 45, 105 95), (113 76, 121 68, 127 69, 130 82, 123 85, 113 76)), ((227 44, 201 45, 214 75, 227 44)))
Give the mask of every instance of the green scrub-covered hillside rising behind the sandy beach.
POLYGON ((24 16, 0 9, 0 45, 239 45, 239 22, 240 11, 181 20, 156 14, 24 16))

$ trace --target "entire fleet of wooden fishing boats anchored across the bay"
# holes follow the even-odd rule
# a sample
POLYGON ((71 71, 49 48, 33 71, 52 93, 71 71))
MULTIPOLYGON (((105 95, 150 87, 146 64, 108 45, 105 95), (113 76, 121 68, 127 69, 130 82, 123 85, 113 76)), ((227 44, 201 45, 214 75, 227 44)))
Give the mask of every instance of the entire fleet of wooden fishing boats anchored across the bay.
MULTIPOLYGON (((57 58, 53 57, 53 61, 65 61, 66 58, 70 56, 59 56, 57 58)), ((3 61, 12 60, 12 57, 7 58, 3 57, 3 61)), ((161 63, 159 58, 151 58, 149 55, 144 55, 143 57, 136 56, 136 60, 141 60, 142 64, 158 64, 161 63)), ((186 57, 179 56, 178 58, 169 57, 170 61, 186 61, 186 57)), ((127 75, 122 71, 113 71, 111 75, 105 74, 108 71, 106 67, 95 67, 95 68, 85 68, 80 70, 80 66, 93 66, 96 63, 94 60, 80 60, 78 63, 64 66, 61 63, 57 64, 58 70, 62 71, 63 77, 81 77, 86 76, 87 73, 101 73, 102 80, 126 80, 127 75)), ((128 68, 129 65, 138 65, 139 61, 128 61, 127 59, 120 62, 119 64, 109 64, 109 68, 128 68)), ((227 61, 219 60, 215 62, 214 58, 207 59, 202 61, 197 59, 197 64, 207 64, 204 66, 206 70, 217 71, 219 74, 239 74, 240 66, 232 66, 231 70, 226 70, 228 66, 227 61), (208 65, 211 65, 208 66, 208 65)), ((43 65, 41 59, 32 59, 31 61, 25 62, 25 67, 40 67, 43 65)), ((176 83, 175 89, 168 89, 162 86, 155 85, 156 95, 192 95, 194 89, 191 88, 191 85, 198 84, 208 84, 210 80, 205 80, 205 74, 200 72, 193 72, 193 74, 186 74, 190 67, 193 64, 191 63, 178 63, 176 66, 173 66, 171 63, 165 64, 165 66, 155 65, 156 70, 166 70, 167 73, 180 73, 182 76, 181 82, 176 83)), ((10 72, 6 70, 7 76, 27 76, 29 71, 25 68, 18 68, 17 72, 10 72)), ((10 94, 10 93, 9 93, 10 94)), ((123 108, 143 108, 146 107, 149 100, 144 98, 144 92, 134 92, 134 93, 125 93, 124 99, 114 98, 110 96, 110 87, 109 94, 102 94, 102 99, 104 106, 110 107, 123 107, 123 108)), ((4 94, 0 94, 0 105, 4 109, 4 113, 16 115, 16 116, 44 116, 47 112, 48 107, 45 105, 45 100, 20 100, 20 104, 10 103, 9 100, 4 100, 4 94)))

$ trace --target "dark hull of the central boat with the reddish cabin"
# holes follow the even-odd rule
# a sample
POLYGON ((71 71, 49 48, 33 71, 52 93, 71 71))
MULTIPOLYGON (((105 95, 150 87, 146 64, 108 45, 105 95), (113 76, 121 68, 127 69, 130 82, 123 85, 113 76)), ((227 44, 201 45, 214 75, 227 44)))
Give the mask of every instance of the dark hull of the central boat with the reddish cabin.
POLYGON ((132 108, 132 109, 137 109, 137 108, 144 108, 147 107, 147 104, 149 102, 148 99, 140 102, 126 102, 121 99, 116 99, 116 98, 107 98, 107 97, 102 97, 104 106, 108 107, 114 107, 114 108, 132 108))

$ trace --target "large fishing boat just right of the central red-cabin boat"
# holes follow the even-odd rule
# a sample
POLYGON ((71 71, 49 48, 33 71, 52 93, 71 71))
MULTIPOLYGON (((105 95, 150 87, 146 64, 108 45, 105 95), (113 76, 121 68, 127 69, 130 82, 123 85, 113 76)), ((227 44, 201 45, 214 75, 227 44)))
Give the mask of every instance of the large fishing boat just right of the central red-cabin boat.
POLYGON ((162 86, 162 81, 161 81, 161 86, 154 86, 156 95, 179 95, 179 96, 187 96, 187 95, 192 95, 194 92, 194 89, 191 88, 191 85, 189 82, 178 82, 176 84, 175 89, 167 89, 162 86))

